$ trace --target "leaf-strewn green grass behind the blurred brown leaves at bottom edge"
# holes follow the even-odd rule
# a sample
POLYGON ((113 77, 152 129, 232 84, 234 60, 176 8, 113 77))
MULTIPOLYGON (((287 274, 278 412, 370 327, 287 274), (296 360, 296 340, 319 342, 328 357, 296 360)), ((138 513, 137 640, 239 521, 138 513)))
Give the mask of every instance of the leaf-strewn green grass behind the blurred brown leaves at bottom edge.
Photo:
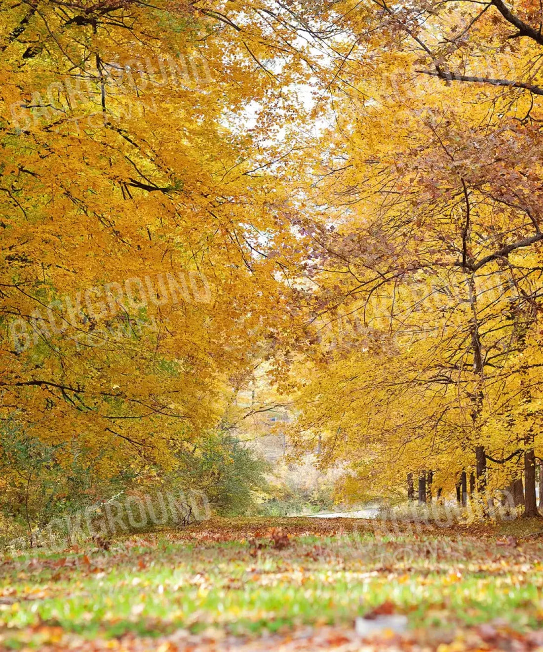
POLYGON ((13 559, 1 567, 0 643, 39 645, 29 632, 40 626, 84 638, 210 626, 258 634, 348 623, 387 601, 415 628, 497 617, 518 629, 542 622, 543 544, 527 536, 535 524, 516 548, 497 546, 488 528, 460 537, 431 527, 380 529, 306 518, 216 520, 126 537, 108 552, 38 554, 25 568, 13 559), (293 534, 282 550, 270 544, 275 524, 293 534))

